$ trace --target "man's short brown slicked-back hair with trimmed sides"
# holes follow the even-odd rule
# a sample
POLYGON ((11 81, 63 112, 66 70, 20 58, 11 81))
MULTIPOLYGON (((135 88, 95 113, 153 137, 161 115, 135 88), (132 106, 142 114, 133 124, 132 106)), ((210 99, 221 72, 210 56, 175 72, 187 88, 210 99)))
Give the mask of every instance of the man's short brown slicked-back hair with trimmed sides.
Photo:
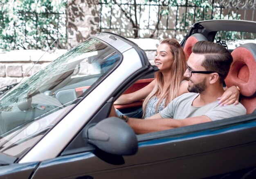
POLYGON ((224 46, 209 41, 199 41, 193 45, 192 52, 203 54, 205 59, 201 65, 207 71, 218 73, 221 83, 224 81, 233 61, 231 53, 224 46))

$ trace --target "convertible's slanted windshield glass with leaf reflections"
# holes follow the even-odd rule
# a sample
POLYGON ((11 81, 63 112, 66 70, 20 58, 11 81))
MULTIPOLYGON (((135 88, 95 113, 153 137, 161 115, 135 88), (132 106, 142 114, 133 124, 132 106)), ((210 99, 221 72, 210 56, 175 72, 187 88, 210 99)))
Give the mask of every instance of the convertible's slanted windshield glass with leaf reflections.
POLYGON ((0 152, 19 157, 121 60, 111 46, 89 38, 0 98, 0 152))

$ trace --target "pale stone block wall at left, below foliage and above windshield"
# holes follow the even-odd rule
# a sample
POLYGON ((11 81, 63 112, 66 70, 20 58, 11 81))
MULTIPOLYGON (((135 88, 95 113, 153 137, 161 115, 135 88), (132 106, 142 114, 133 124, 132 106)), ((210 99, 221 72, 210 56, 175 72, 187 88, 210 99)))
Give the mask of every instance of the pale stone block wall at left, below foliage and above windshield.
POLYGON ((66 51, 56 50, 47 53, 41 50, 0 51, 0 87, 26 79, 66 51), (38 60, 39 62, 36 63, 38 60))

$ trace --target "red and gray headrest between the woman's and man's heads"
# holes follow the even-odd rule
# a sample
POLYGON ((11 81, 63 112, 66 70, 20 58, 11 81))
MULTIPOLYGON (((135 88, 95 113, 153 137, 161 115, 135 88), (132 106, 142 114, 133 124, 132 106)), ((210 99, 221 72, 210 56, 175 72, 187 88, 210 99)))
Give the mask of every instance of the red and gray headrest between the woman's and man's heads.
POLYGON ((189 56, 192 53, 192 46, 196 42, 203 41, 203 40, 207 41, 207 38, 204 37, 204 35, 202 35, 201 33, 195 33, 195 34, 189 36, 189 38, 186 40, 184 48, 183 48, 184 52, 186 53, 186 60, 189 59, 189 56))

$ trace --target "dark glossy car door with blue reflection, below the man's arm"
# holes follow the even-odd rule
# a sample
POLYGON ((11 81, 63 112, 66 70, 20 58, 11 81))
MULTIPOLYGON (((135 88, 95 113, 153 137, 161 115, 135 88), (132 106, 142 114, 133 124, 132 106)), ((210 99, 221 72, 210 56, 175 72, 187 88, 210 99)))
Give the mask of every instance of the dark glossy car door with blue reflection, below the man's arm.
MULTIPOLYGON (((111 104, 106 103, 94 119, 111 104)), ((256 166, 255 133, 254 113, 137 135, 138 152, 120 156, 88 144, 81 132, 59 157, 43 161, 33 178, 141 179, 220 175, 256 166)))

